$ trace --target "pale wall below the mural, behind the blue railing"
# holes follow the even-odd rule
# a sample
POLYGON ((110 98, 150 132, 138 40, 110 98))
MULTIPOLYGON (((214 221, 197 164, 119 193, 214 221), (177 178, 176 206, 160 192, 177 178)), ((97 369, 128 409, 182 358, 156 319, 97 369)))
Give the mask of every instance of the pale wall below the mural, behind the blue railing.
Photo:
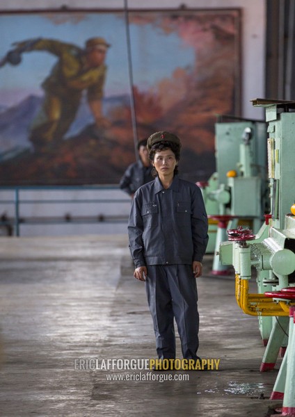
MULTIPOLYGON (((126 234, 130 205, 129 195, 115 186, 22 188, 17 196, 15 190, 0 188, 0 215, 5 213, 11 220, 18 212, 25 220, 19 222, 19 236, 126 234), (65 216, 70 221, 65 222, 65 216)), ((0 227, 0 236, 6 234, 6 227, 0 227)))

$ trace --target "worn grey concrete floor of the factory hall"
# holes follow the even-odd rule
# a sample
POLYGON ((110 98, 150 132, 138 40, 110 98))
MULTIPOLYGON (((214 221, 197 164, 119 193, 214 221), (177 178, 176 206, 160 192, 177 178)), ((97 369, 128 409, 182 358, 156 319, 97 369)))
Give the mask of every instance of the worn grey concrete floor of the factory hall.
MULTIPOLYGON (((221 359, 219 370, 165 373, 189 381, 110 381, 110 375, 149 371, 74 370, 74 360, 155 357, 144 284, 132 277, 127 237, 1 237, 0 416, 275 414, 281 404, 269 395, 281 359, 276 370, 260 373, 257 319, 239 310, 234 275, 210 276, 210 255, 204 264, 199 355, 221 359)), ((180 357, 179 339, 177 349, 180 357)))

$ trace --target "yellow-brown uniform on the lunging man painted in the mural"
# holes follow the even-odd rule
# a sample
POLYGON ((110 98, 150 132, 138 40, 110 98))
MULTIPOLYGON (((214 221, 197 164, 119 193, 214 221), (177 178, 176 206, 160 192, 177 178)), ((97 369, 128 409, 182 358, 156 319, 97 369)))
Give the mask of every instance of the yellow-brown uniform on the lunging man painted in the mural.
MULTIPOLYGON (((19 42, 17 47, 25 42, 28 41, 19 42)), ((83 90, 87 91, 88 101, 102 99, 106 65, 86 68, 85 51, 58 40, 37 40, 27 51, 47 51, 58 57, 42 83, 45 98, 31 126, 30 140, 38 147, 63 138, 77 114, 83 90)))

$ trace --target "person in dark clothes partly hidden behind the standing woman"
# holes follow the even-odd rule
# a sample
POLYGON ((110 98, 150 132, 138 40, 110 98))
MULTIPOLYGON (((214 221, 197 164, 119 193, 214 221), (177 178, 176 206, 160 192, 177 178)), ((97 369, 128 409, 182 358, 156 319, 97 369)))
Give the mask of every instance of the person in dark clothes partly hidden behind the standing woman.
POLYGON ((136 190, 154 179, 152 165, 148 156, 148 138, 142 139, 137 144, 138 161, 131 163, 120 180, 120 188, 133 198, 136 190))

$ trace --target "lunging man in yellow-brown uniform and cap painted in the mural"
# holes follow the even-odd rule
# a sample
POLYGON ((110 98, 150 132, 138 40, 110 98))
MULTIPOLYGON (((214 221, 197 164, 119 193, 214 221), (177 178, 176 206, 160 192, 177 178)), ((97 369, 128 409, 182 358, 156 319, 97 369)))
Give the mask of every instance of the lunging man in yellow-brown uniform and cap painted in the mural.
POLYGON ((97 129, 109 126, 109 121, 102 114, 102 97, 107 69, 104 60, 111 45, 104 38, 88 39, 85 49, 42 38, 16 42, 14 46, 15 50, 7 55, 8 62, 13 65, 20 62, 20 58, 17 62, 15 56, 24 52, 47 51, 58 57, 51 73, 42 83, 45 98, 31 126, 29 140, 35 149, 54 146, 63 139, 77 115, 84 90, 97 129), (12 59, 9 60, 9 56, 12 59))

